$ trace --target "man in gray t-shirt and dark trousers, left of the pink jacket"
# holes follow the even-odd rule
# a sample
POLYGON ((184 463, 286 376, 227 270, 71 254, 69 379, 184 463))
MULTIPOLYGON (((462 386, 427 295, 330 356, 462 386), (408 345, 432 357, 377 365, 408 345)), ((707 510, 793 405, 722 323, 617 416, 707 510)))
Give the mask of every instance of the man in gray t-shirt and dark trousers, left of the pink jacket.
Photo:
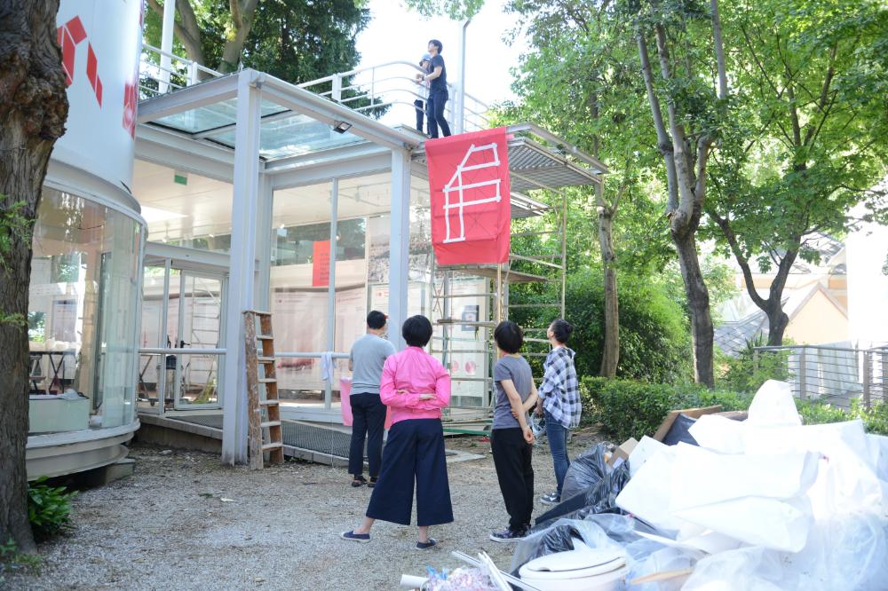
POLYGON ((394 345, 383 338, 386 317, 381 311, 367 315, 367 334, 352 345, 348 368, 352 370, 352 393, 340 404, 352 406, 352 444, 348 453, 348 471, 353 474, 352 486, 367 483, 364 471, 364 438, 367 438, 367 463, 372 487, 379 476, 383 454, 385 405, 379 399, 379 381, 382 379, 385 359, 395 354, 394 345))

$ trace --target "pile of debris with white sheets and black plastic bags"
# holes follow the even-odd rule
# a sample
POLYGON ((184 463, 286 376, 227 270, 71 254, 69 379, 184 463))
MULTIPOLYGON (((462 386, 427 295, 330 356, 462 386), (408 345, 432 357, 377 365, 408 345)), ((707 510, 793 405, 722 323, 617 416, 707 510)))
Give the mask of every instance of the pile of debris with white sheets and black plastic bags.
POLYGON ((888 437, 802 425, 783 382, 748 416, 712 410, 578 457, 516 548, 516 587, 888 589, 888 437))

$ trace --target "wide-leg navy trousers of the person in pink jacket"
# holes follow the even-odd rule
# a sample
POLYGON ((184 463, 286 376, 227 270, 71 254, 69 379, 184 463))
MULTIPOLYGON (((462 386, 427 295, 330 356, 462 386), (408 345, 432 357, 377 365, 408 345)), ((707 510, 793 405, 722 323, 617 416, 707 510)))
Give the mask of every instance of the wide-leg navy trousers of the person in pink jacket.
POLYGON ((393 524, 409 525, 416 481, 416 524, 439 525, 453 521, 444 431, 440 419, 399 421, 389 429, 383 468, 367 516, 393 524))

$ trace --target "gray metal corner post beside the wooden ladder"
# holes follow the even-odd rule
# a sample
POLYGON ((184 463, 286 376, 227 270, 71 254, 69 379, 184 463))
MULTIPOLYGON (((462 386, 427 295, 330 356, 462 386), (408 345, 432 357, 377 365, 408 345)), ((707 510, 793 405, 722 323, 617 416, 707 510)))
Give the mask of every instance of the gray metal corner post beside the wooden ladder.
MULTIPOLYGON (((247 461, 246 354, 243 311, 253 307, 259 182, 259 114, 262 92, 253 71, 237 80, 231 272, 226 303, 226 364, 222 398, 222 461, 247 461)), ((175 95, 173 95, 175 96, 175 95)))

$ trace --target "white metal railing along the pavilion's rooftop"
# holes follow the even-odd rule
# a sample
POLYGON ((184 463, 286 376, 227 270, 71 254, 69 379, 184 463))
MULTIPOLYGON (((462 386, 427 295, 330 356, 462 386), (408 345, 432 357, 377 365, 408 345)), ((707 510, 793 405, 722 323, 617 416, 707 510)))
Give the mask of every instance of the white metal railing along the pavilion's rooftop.
MULTIPOLYGON (((416 81, 416 75, 423 72, 421 67, 411 62, 391 61, 339 72, 297 86, 353 108, 358 113, 377 116, 392 127, 405 125, 413 128, 416 125, 415 101, 422 101, 424 105, 427 95, 424 84, 416 81)), ((178 91, 222 75, 192 59, 145 43, 139 64, 139 98, 178 91), (169 67, 164 65, 168 60, 169 67)), ((488 129, 488 105, 468 93, 464 95, 464 105, 458 105, 461 95, 457 90, 454 84, 448 83, 449 100, 445 116, 454 131, 488 129), (462 114, 462 117, 458 114, 462 114), (462 129, 459 129, 460 125, 462 129)))

